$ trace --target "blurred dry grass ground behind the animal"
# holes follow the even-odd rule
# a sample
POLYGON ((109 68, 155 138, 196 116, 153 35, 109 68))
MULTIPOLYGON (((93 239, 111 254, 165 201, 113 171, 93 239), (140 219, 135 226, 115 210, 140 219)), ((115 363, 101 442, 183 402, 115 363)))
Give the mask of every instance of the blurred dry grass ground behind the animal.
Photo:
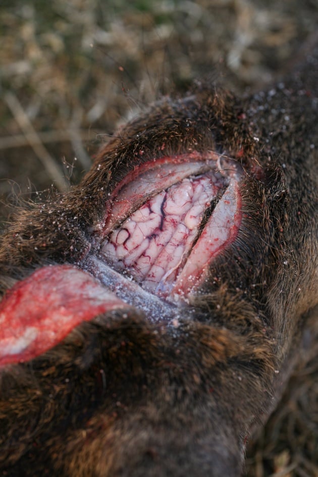
MULTIPOLYGON (((78 181, 160 95, 218 69, 238 92, 270 82, 317 24, 317 0, 0 0, 2 217, 78 181)), ((317 368, 297 371, 245 475, 318 476, 317 368)))

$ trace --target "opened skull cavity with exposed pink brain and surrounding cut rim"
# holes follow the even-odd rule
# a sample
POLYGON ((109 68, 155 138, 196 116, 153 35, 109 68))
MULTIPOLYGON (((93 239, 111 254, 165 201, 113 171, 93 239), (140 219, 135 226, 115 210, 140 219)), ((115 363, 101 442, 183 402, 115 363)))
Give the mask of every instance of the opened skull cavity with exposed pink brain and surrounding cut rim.
POLYGON ((240 177, 235 161, 211 151, 196 153, 196 162, 182 155, 143 164, 111 195, 102 258, 151 293, 172 301, 186 297, 204 280, 211 260, 237 236, 240 177), (218 191, 223 196, 193 246, 204 210, 218 191), (193 227, 183 213, 186 207, 195 211, 193 227))

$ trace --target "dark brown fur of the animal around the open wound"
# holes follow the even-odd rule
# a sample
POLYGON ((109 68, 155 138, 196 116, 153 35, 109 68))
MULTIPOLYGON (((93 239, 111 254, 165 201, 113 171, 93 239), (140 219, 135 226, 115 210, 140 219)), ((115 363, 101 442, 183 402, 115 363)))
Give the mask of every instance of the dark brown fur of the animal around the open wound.
POLYGON ((318 336, 317 72, 316 47, 268 91, 238 99, 198 84, 165 98, 101 149, 78 187, 16 215, 0 249, 3 292, 97 252, 108 191, 134 165, 215 150, 247 172, 243 226, 191 296, 195 319, 170 333, 143 313, 107 313, 1 369, 2 475, 240 475, 246 437, 318 336))

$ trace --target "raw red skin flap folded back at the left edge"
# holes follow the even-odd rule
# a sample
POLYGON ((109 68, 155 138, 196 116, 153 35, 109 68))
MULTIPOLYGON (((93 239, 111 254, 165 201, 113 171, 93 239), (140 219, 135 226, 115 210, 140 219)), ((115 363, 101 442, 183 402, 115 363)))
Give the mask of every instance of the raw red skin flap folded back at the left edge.
POLYGON ((43 267, 11 288, 0 303, 0 365, 32 359, 81 322, 127 306, 81 270, 43 267))

